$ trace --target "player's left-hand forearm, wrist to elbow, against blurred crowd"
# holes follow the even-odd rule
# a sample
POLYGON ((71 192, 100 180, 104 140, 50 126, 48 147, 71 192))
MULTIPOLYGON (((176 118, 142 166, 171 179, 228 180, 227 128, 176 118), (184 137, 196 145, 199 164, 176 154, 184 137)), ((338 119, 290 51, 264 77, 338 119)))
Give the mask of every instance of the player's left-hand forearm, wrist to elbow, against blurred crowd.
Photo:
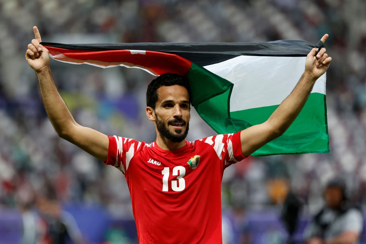
POLYGON ((67 131, 76 124, 75 120, 57 91, 50 68, 46 67, 42 71, 36 72, 36 75, 49 120, 57 134, 65 137, 67 131))

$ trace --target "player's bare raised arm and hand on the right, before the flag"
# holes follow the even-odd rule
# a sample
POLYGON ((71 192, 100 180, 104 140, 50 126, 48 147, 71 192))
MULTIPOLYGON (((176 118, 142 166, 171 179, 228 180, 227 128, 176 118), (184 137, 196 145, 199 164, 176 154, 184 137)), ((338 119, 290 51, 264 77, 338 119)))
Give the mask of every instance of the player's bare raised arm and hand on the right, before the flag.
MULTIPOLYGON (((328 34, 321 41, 325 42, 328 34)), ((291 94, 278 106, 267 121, 253 125, 240 133, 242 152, 248 156, 264 144, 282 135, 294 122, 315 84, 315 81, 328 69, 331 57, 322 48, 316 55, 317 48, 313 48, 306 57, 305 71, 291 94), (316 55, 316 56, 315 56, 316 55)))

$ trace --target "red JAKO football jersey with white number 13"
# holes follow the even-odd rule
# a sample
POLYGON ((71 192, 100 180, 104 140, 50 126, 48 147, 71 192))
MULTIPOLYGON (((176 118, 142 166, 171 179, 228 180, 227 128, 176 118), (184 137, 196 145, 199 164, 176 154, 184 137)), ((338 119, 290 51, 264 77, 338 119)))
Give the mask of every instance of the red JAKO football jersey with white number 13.
POLYGON ((242 159, 240 132, 171 151, 109 136, 105 164, 126 177, 139 243, 221 244, 221 180, 242 159))

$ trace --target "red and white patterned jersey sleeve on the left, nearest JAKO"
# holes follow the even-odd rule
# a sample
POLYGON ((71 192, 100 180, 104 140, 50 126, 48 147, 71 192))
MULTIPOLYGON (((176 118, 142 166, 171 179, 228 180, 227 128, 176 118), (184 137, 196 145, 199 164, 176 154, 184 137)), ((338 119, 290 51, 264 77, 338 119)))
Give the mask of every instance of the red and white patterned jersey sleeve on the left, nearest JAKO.
POLYGON ((115 166, 123 174, 128 170, 132 157, 137 151, 142 150, 142 142, 120 136, 108 136, 108 156, 104 164, 115 166))

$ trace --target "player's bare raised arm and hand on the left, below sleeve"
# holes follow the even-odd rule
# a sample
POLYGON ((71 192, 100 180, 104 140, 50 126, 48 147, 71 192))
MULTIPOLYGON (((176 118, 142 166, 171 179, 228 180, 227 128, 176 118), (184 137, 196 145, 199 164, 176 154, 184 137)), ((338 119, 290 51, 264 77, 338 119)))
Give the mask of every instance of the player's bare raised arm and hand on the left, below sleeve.
POLYGON ((74 143, 94 157, 107 161, 108 137, 75 122, 53 82, 49 52, 40 44, 41 35, 38 28, 34 26, 33 31, 35 39, 28 45, 25 57, 29 66, 36 72, 43 104, 53 128, 61 138, 74 143))

